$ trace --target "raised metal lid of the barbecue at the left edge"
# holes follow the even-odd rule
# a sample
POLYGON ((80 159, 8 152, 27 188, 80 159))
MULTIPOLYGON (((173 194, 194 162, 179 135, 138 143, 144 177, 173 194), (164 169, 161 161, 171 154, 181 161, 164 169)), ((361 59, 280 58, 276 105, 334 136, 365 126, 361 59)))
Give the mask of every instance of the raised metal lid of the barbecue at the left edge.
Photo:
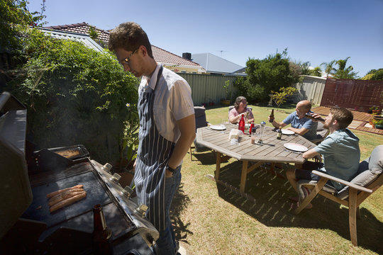
POLYGON ((25 157, 26 107, 0 95, 0 238, 32 202, 25 157))

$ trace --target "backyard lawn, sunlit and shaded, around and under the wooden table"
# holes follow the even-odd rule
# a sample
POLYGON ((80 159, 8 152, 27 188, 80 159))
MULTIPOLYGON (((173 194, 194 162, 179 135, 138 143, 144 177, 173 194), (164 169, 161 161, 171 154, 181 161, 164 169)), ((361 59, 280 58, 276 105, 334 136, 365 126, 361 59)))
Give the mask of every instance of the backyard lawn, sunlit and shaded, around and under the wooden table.
MULTIPOLYGON (((267 121, 271 108, 253 107, 255 122, 267 121)), ((274 111, 277 120, 294 106, 274 111)), ((206 110, 206 118, 218 124, 227 107, 206 110)), ((269 124, 268 124, 269 125, 269 124)), ((353 130, 354 132, 354 130, 353 130)), ((362 159, 382 144, 383 136, 355 131, 360 137, 362 159)), ((177 239, 188 254, 382 254, 383 188, 362 203, 357 220, 358 247, 350 242, 348 209, 318 196, 313 209, 294 215, 287 198, 294 190, 286 179, 269 174, 265 166, 248 174, 245 199, 231 188, 207 178, 216 158, 211 151, 184 157, 182 183, 172 204, 177 239)), ((239 187, 240 162, 221 165, 220 179, 239 187)), ((280 170, 284 175, 284 169, 280 170)))

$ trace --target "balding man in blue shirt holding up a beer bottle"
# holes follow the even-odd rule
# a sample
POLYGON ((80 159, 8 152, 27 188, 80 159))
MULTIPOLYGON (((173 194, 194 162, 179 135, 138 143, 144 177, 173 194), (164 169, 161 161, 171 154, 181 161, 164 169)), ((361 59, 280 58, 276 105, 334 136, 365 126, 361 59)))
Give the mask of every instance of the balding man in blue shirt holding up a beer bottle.
MULTIPOLYGON (((306 118, 306 113, 309 113, 311 110, 311 103, 308 100, 299 101, 296 104, 294 113, 291 113, 287 116, 281 123, 272 120, 272 125, 274 128, 284 127, 289 124, 292 124, 288 130, 294 131, 296 134, 303 136, 307 140, 316 139, 316 128, 318 123, 309 118, 306 118)), ((269 117, 270 121, 270 117, 269 117)))

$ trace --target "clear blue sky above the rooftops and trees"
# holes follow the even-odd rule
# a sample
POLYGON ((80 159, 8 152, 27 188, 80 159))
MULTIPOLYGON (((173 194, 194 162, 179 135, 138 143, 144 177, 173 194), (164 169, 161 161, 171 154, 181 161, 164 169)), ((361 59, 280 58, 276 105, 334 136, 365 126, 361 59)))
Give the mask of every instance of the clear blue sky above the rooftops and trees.
MULTIPOLYGON (((29 2, 38 11, 43 0, 29 2)), ((45 8, 46 26, 135 21, 152 45, 180 56, 210 52, 245 67, 288 48, 312 67, 350 57, 360 77, 383 68, 383 0, 46 0, 45 8)))

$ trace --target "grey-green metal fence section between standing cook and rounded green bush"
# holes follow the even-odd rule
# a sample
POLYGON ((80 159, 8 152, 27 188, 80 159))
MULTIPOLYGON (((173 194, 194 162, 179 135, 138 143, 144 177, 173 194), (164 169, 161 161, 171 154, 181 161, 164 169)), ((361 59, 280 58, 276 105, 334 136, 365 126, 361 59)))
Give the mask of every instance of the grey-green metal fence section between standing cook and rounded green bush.
MULTIPOLYGON (((236 76, 214 74, 178 74, 189 83, 191 87, 191 98, 193 98, 194 106, 201 106, 202 103, 210 102, 219 104, 221 98, 226 97, 223 85, 225 85, 225 81, 227 80, 230 81, 228 89, 229 96, 230 91, 236 91, 236 88, 233 88, 236 76)), ((231 100, 231 103, 233 103, 233 99, 231 100)))

